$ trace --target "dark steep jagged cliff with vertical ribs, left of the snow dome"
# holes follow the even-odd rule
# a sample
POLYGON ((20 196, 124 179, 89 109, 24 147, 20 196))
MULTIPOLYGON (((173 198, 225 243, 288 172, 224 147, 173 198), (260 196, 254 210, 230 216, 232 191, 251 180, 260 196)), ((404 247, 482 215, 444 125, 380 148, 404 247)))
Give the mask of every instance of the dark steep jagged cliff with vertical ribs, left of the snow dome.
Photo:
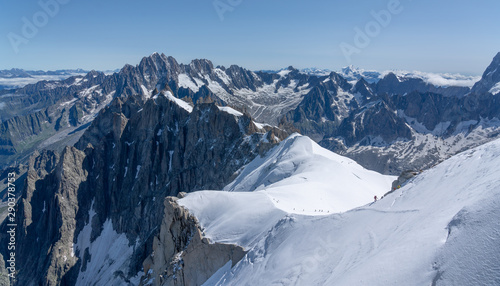
POLYGON ((164 198, 221 188, 286 137, 260 127, 213 103, 191 107, 168 90, 145 103, 115 99, 75 147, 31 157, 16 217, 23 271, 14 285, 137 285, 164 198), (107 248, 119 253, 101 257, 107 248))

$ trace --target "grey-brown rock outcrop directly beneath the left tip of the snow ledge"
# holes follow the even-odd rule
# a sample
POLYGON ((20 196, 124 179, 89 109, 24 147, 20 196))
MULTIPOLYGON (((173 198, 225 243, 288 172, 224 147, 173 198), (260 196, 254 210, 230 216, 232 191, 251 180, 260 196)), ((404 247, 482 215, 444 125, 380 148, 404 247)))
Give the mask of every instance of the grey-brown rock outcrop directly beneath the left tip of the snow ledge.
POLYGON ((153 252, 144 261, 140 285, 202 285, 226 263, 234 266, 245 256, 237 245, 210 242, 198 220, 177 203, 165 199, 165 216, 153 240, 153 252))

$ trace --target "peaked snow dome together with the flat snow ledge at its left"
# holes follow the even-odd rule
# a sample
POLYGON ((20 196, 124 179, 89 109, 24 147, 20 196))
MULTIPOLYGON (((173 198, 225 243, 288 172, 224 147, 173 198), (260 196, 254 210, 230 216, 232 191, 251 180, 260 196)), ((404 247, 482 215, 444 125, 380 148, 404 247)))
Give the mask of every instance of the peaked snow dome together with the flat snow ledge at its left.
POLYGON ((294 134, 248 164, 226 191, 195 192, 180 204, 210 229, 207 237, 252 247, 286 215, 346 211, 382 196, 394 179, 294 134))

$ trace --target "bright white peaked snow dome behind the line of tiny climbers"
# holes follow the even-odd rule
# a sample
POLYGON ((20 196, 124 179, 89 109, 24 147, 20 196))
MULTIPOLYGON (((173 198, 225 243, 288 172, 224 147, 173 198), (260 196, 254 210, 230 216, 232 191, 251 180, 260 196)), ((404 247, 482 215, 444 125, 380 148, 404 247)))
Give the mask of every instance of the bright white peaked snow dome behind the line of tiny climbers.
POLYGON ((288 213, 324 215, 366 204, 394 180, 295 134, 254 159, 224 190, 260 191, 288 213))

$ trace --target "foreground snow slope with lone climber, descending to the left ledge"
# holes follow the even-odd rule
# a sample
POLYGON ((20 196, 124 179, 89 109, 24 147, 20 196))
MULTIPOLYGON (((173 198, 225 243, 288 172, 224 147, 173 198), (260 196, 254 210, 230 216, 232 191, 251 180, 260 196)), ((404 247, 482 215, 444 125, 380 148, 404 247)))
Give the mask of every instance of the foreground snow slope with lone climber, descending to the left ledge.
POLYGON ((279 210, 263 191, 199 192, 180 203, 212 240, 249 251, 210 285, 500 285, 499 165, 497 140, 376 203, 327 216, 279 210))

